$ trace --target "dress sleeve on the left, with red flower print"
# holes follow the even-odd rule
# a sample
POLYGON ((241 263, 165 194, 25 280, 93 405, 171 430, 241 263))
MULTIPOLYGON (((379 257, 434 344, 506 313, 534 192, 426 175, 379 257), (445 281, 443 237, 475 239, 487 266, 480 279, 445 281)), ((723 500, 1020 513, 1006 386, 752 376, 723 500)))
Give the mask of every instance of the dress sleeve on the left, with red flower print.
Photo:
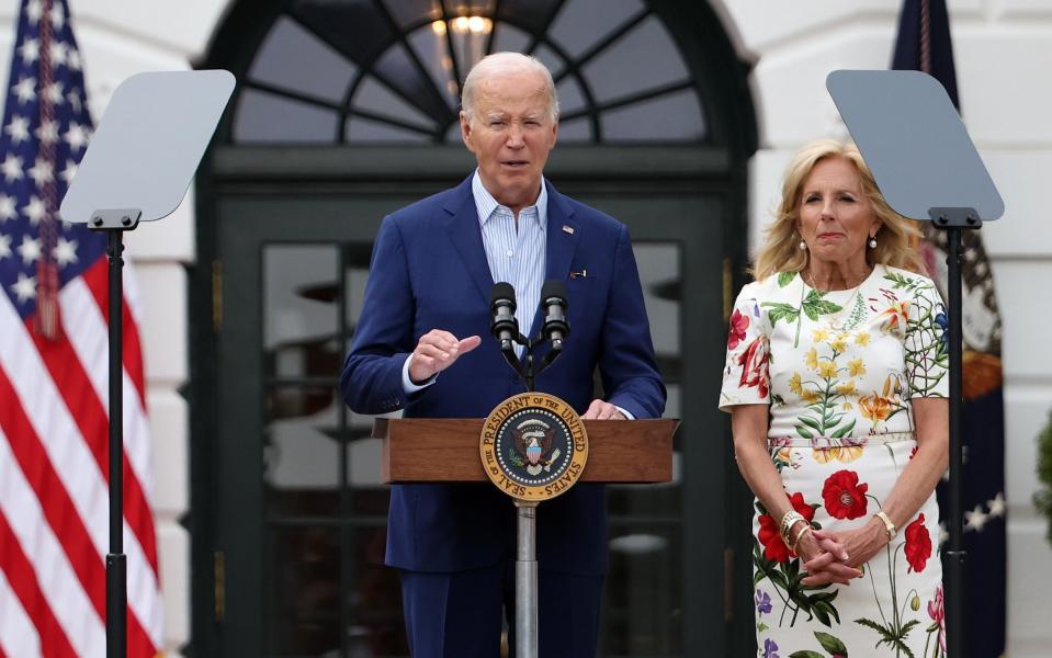
POLYGON ((727 360, 720 390, 720 409, 724 411, 735 405, 770 404, 770 341, 760 318, 756 288, 756 284, 742 288, 731 314, 727 360))

